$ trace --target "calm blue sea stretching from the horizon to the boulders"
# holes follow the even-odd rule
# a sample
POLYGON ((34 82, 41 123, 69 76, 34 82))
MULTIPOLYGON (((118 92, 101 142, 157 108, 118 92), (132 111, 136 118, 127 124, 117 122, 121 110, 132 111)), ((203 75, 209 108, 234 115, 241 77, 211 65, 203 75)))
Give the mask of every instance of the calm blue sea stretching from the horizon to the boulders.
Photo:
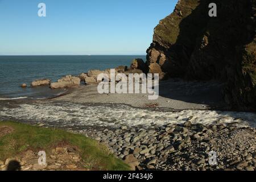
POLYGON ((146 56, 0 56, 0 100, 56 96, 65 89, 30 88, 31 82, 42 78, 54 82, 65 75, 77 76, 90 69, 129 66, 135 58, 146 60, 146 56), (21 88, 23 83, 28 88, 21 88))

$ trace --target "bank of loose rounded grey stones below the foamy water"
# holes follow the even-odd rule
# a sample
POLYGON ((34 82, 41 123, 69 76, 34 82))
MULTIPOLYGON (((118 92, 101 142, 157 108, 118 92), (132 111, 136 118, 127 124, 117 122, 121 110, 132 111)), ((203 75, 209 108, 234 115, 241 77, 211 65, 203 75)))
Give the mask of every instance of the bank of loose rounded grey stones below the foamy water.
POLYGON ((228 125, 182 125, 80 131, 105 143, 118 158, 138 170, 246 170, 256 169, 256 130, 228 125), (215 151, 217 164, 209 153, 215 151))

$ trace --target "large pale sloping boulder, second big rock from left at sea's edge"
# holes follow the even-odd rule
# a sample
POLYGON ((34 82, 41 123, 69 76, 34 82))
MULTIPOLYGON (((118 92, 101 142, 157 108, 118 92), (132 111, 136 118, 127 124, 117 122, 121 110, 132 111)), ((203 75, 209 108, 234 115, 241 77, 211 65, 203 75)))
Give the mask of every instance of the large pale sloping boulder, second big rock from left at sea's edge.
POLYGON ((52 83, 50 87, 51 89, 78 87, 80 86, 80 81, 79 77, 68 75, 52 83))

